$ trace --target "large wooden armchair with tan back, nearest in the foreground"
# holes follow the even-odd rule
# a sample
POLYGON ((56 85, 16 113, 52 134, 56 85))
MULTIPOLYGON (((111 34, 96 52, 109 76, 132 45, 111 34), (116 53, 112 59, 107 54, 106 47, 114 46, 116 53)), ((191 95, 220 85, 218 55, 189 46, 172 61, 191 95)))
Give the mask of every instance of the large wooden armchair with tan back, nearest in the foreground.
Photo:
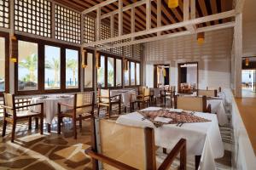
POLYGON ((95 121, 92 118, 92 147, 85 154, 92 158, 92 169, 169 169, 179 155, 179 169, 186 169, 186 139, 180 139, 166 159, 160 162, 155 154, 154 129, 131 127, 110 120, 95 121), (96 132, 98 127, 99 133, 96 132))

